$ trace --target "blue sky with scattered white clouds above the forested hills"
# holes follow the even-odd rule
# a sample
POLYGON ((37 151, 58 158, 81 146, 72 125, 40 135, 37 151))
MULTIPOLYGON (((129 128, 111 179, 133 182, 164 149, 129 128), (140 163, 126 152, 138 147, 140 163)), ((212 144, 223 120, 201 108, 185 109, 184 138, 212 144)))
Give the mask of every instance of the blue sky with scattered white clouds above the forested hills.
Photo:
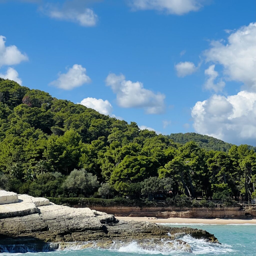
POLYGON ((163 134, 256 145, 255 1, 0 0, 0 8, 0 76, 163 134), (1 54, 11 45, 19 53, 8 62, 1 54))

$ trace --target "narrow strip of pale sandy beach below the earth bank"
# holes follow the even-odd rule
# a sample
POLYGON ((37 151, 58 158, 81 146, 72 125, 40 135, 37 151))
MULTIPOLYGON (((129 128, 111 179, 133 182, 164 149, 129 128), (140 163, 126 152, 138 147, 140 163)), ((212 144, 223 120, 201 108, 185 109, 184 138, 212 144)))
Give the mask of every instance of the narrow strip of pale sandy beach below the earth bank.
POLYGON ((118 217, 119 220, 150 221, 154 223, 186 223, 186 224, 256 224, 256 219, 188 219, 188 218, 168 218, 152 219, 151 217, 118 217))

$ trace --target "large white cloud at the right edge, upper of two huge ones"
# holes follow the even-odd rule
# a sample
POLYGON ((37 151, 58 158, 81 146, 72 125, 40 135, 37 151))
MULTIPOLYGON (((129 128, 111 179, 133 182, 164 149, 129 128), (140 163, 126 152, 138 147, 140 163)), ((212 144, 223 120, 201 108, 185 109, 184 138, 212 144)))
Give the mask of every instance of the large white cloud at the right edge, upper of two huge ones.
POLYGON ((227 44, 212 41, 204 54, 206 61, 222 65, 230 80, 243 82, 248 90, 256 91, 256 23, 230 31, 227 44))

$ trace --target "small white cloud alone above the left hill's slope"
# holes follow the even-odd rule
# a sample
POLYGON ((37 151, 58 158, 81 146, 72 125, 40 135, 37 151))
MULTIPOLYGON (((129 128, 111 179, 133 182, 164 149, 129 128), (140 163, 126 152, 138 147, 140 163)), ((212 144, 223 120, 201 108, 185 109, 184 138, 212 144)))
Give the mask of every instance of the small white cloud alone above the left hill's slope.
POLYGON ((83 68, 78 64, 74 64, 72 68, 68 69, 67 73, 59 73, 58 76, 59 78, 57 80, 54 80, 49 84, 64 90, 72 90, 84 83, 91 82, 90 77, 86 75, 86 68, 83 68))

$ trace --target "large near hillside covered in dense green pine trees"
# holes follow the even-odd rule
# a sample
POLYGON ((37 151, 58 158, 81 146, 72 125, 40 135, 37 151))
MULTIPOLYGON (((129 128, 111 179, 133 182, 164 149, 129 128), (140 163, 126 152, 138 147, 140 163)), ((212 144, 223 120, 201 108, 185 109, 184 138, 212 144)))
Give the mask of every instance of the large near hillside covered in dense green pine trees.
POLYGON ((191 198, 251 196, 256 153, 248 145, 203 137, 219 145, 206 151, 172 136, 0 78, 0 189, 36 197, 138 199, 159 189, 191 198), (227 145, 228 153, 216 151, 227 145))

